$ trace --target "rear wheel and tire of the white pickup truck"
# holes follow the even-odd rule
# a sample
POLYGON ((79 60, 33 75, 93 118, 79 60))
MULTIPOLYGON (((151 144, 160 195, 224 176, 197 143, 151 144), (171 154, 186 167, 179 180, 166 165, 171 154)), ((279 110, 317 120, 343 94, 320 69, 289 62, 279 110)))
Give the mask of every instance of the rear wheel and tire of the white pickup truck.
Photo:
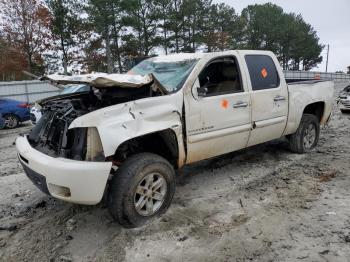
POLYGON ((319 119, 312 114, 304 114, 297 131, 288 137, 290 149, 303 154, 314 149, 320 137, 319 119))

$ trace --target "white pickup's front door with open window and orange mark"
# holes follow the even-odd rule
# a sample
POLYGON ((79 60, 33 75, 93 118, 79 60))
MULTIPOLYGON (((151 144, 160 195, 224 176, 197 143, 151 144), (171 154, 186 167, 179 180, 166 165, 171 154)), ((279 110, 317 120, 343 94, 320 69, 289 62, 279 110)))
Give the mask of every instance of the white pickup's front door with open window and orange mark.
POLYGON ((185 95, 187 163, 246 147, 251 102, 236 56, 210 60, 185 95))

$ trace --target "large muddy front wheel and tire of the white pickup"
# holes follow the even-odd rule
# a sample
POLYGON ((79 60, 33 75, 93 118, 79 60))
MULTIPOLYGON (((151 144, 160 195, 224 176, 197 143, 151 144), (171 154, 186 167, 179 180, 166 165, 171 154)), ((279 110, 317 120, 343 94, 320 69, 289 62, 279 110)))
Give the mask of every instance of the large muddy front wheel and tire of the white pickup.
POLYGON ((131 156, 112 178, 109 211, 124 227, 141 226, 169 208, 175 187, 175 171, 167 160, 151 153, 131 156))

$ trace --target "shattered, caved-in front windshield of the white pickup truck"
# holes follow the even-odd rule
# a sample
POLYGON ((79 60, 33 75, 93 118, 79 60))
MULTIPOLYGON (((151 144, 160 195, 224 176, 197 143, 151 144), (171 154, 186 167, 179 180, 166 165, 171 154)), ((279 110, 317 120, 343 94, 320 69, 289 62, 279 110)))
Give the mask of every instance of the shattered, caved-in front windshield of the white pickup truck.
POLYGON ((153 74, 169 92, 174 92, 182 87, 197 62, 198 59, 157 61, 157 57, 149 58, 134 66, 128 74, 153 74))

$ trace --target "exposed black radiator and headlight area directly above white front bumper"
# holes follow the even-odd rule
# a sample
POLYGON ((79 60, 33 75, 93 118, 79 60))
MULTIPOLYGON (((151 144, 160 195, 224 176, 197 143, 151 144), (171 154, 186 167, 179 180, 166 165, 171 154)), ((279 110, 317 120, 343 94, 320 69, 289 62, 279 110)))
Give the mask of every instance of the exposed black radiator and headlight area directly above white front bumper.
POLYGON ((79 99, 51 102, 44 107, 42 118, 30 132, 29 143, 51 157, 105 161, 95 127, 68 129, 74 119, 88 112, 79 99))

